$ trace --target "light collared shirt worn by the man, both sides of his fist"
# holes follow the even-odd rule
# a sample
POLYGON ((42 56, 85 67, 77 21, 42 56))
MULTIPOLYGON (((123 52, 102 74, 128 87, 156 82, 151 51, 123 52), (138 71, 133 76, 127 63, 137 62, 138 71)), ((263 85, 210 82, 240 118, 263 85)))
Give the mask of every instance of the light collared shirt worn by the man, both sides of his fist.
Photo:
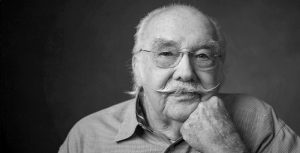
MULTIPOLYGON (((271 106, 242 94, 218 96, 250 152, 300 152, 299 137, 271 106)), ((143 121, 139 104, 139 98, 128 100, 81 119, 59 153, 198 153, 181 138, 171 142, 153 133, 143 121)))

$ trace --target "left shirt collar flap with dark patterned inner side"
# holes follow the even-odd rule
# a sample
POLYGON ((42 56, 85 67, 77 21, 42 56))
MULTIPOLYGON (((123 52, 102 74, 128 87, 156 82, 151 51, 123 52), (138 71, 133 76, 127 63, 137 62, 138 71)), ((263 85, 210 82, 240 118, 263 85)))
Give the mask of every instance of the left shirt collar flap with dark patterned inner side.
POLYGON ((134 98, 134 102, 130 103, 127 110, 124 114, 124 120, 119 126, 117 135, 115 136, 115 141, 119 142, 131 137, 138 126, 141 126, 143 129, 148 127, 146 121, 141 99, 141 91, 134 98))

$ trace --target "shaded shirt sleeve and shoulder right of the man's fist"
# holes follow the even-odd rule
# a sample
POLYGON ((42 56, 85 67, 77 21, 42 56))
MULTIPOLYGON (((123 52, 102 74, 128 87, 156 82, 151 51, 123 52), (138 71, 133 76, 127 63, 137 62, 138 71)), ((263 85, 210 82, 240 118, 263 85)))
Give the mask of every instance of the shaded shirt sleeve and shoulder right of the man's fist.
POLYGON ((247 95, 225 97, 244 143, 253 153, 300 153, 297 134, 264 101, 247 95))

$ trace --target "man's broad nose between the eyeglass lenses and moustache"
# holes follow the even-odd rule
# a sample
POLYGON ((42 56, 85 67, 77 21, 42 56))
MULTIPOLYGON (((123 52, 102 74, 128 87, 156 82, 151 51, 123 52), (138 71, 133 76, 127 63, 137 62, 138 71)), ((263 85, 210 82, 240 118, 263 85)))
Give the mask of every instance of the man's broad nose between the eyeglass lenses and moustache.
POLYGON ((194 82, 197 76, 194 72, 193 65, 190 62, 189 55, 184 54, 179 64, 175 67, 173 78, 178 81, 194 82))

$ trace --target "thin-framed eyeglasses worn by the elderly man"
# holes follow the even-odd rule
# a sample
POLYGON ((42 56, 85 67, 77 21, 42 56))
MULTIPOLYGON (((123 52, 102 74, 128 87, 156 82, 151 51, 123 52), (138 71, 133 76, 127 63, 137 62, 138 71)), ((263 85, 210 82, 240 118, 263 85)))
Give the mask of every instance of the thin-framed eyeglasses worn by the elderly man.
POLYGON ((153 53, 152 60, 160 68, 172 68, 179 64, 184 54, 188 54, 192 64, 197 68, 213 68, 217 58, 221 57, 214 50, 200 49, 198 51, 183 51, 186 49, 165 49, 161 51, 150 51, 140 49, 139 51, 153 53))

